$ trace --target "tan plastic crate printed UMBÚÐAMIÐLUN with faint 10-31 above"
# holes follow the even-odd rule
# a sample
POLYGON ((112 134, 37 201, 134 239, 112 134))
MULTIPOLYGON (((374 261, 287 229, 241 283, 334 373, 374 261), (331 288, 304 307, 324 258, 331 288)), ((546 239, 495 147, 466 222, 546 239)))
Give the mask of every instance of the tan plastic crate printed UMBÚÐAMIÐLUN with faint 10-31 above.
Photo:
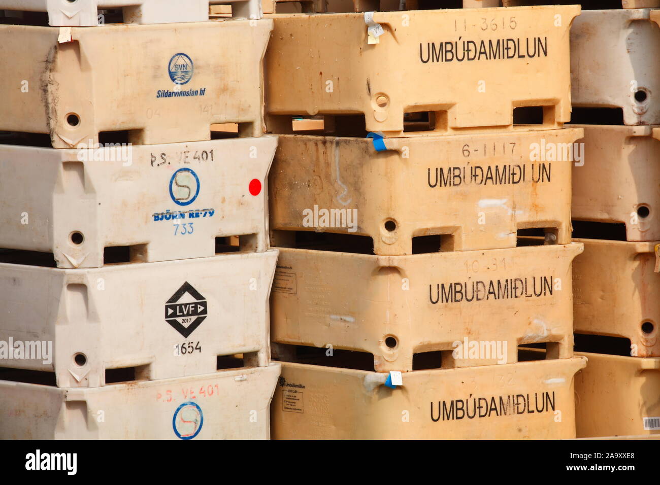
POLYGON ((379 372, 409 372, 413 354, 462 348, 467 356, 457 353, 448 366, 512 363, 519 344, 535 342, 552 342, 550 358, 568 358, 570 268, 581 251, 569 244, 374 256, 281 248, 271 338, 370 352, 379 372), (494 342, 488 352, 499 358, 485 348, 468 354, 470 341, 494 342))

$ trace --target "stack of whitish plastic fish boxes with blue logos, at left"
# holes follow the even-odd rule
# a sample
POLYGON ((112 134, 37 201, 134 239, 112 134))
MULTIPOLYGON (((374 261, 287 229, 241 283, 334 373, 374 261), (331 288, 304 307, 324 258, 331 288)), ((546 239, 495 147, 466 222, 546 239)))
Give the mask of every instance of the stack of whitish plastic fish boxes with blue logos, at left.
POLYGON ((258 5, 0 0, 0 437, 269 437, 258 5))

